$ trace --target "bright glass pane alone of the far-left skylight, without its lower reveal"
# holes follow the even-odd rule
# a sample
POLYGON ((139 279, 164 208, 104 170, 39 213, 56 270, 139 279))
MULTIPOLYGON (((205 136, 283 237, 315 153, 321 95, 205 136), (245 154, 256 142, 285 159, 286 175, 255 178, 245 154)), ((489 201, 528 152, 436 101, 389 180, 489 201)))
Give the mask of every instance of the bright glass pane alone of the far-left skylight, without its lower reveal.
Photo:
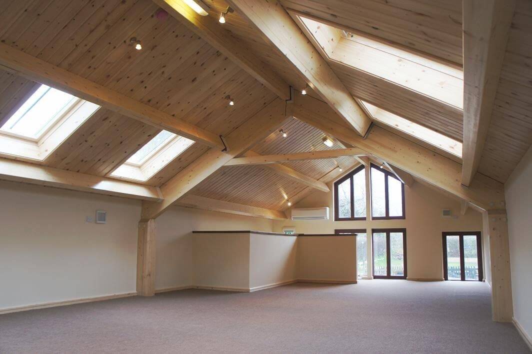
POLYGON ((55 88, 40 85, 34 94, 2 126, 2 130, 38 139, 59 120, 79 98, 55 88))

